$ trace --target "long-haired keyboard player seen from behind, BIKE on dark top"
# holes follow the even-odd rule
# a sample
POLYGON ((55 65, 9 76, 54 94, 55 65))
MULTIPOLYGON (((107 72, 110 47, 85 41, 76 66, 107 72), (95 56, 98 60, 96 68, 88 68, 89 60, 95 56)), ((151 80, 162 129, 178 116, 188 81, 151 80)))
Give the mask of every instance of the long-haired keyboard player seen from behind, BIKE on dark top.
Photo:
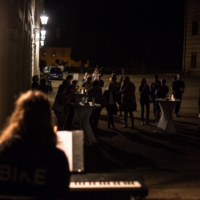
POLYGON ((0 136, 0 195, 67 199, 68 160, 56 148, 51 120, 44 93, 28 91, 16 101, 0 136))

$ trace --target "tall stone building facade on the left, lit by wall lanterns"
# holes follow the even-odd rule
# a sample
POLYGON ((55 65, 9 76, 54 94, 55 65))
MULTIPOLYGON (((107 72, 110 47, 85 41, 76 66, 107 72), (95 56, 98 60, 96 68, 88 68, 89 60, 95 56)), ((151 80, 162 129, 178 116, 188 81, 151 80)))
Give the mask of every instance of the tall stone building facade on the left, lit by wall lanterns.
POLYGON ((30 89, 39 75, 40 27, 44 0, 0 1, 0 129, 11 114, 16 97, 30 89))

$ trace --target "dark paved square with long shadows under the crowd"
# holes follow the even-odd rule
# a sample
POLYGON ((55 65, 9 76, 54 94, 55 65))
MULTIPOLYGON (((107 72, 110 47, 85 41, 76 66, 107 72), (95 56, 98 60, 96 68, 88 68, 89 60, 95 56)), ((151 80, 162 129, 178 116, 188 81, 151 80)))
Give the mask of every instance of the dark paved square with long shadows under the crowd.
MULTIPOLYGON (((79 85, 82 76, 79 74, 79 85)), ((143 77, 148 84, 153 81, 153 75, 130 75, 137 88, 135 129, 123 129, 123 118, 116 116, 117 130, 109 130, 108 116, 103 109, 98 131, 100 152, 93 152, 86 147, 86 170, 142 175, 149 189, 149 200, 200 200, 200 119, 197 118, 200 79, 183 77, 186 90, 180 110, 181 117, 174 117, 178 134, 164 135, 162 131, 154 132, 152 105, 150 126, 141 125, 138 87, 143 77)), ((165 74, 159 77, 165 78, 169 86, 173 75, 165 74)), ((103 77, 105 86, 109 82, 108 79, 109 75, 103 77)), ((52 83, 53 92, 49 94, 51 102, 61 81, 52 83)))

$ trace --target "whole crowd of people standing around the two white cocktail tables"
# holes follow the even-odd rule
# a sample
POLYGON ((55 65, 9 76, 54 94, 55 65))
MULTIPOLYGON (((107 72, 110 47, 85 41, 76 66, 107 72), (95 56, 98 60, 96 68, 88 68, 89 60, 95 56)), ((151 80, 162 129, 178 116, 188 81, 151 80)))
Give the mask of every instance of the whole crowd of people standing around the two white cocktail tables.
MULTIPOLYGON (((128 115, 130 116, 131 125, 129 128, 134 128, 134 114, 137 110, 135 91, 136 87, 133 82, 130 81, 129 76, 119 77, 117 79, 116 74, 112 73, 110 83, 105 91, 102 91, 104 81, 101 79, 101 74, 98 74, 98 69, 95 69, 93 76, 90 76, 87 72, 82 79, 82 88, 86 89, 88 101, 95 100, 95 103, 101 104, 100 108, 94 109, 90 116, 90 125, 94 130, 98 127, 98 120, 103 107, 106 108, 108 114, 108 128, 115 129, 114 115, 122 117, 124 113, 124 125, 123 128, 128 127, 128 115), (95 75, 94 75, 95 74, 95 75), (93 78, 92 78, 93 77, 93 78), (118 80, 118 81, 117 81, 118 80)), ((66 80, 58 88, 56 100, 63 106, 65 106, 65 113, 57 113, 55 115, 58 119, 59 129, 70 130, 72 120, 74 116, 74 107, 71 103, 76 102, 76 85, 72 84, 73 76, 68 75, 66 80), (63 117, 65 115, 65 117, 63 117)), ((156 124, 158 123, 162 113, 159 104, 156 99, 167 98, 173 94, 175 99, 179 99, 180 102, 176 104, 175 116, 179 117, 179 110, 181 105, 182 94, 185 89, 185 84, 181 80, 181 76, 174 77, 171 85, 171 91, 166 85, 166 79, 159 80, 158 75, 154 75, 154 81, 149 86, 145 78, 141 80, 139 86, 140 93, 140 106, 141 106, 141 124, 149 125, 150 103, 153 104, 153 113, 155 116, 156 124), (146 113, 145 113, 146 112, 146 113), (146 114, 146 115, 145 115, 146 114)))

